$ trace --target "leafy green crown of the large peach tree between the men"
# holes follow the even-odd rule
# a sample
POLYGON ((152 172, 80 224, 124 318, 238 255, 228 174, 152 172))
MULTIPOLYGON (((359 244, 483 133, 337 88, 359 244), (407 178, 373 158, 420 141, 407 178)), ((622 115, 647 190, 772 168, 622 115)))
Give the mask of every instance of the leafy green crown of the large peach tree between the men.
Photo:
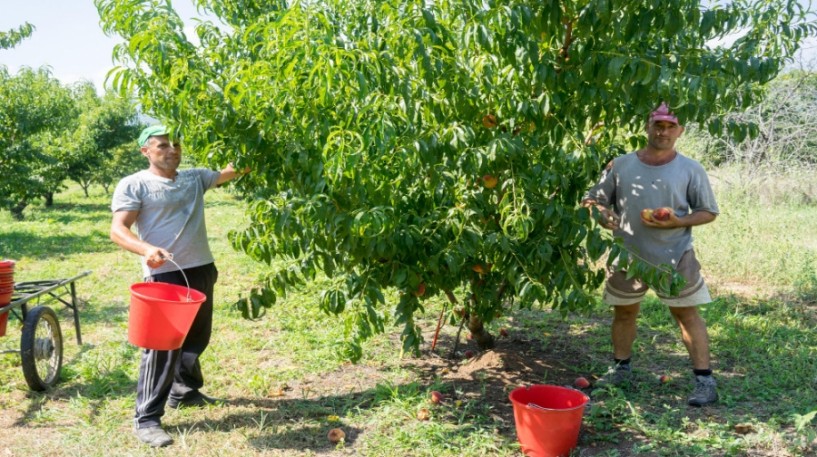
POLYGON ((600 259, 627 260, 579 205, 604 164, 643 144, 660 100, 751 133, 717 115, 814 31, 784 0, 198 0, 192 29, 167 1, 96 5, 124 39, 110 81, 199 158, 252 169, 231 239, 273 268, 245 315, 325 274, 316 306, 344 316, 353 359, 391 315, 417 348, 438 295, 481 347, 511 301, 592 306, 600 259))

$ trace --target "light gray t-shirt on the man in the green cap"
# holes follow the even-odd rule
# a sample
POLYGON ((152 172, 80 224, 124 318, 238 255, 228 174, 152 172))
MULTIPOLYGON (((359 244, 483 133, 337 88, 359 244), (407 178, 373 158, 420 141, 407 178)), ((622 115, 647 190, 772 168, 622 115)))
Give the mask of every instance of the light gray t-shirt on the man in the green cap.
MULTIPOLYGON (((203 168, 180 170, 176 179, 142 170, 119 182, 111 210, 139 211, 139 239, 166 249, 181 268, 213 262, 204 223, 204 192, 215 187, 220 173, 203 168)), ((177 270, 172 262, 151 269, 142 258, 145 277, 177 270)))

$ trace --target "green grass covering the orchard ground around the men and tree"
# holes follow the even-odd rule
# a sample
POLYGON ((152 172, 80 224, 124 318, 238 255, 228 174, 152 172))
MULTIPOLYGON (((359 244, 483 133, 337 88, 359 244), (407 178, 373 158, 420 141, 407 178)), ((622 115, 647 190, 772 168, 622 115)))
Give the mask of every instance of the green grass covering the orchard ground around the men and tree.
MULTIPOLYGON (((611 389, 598 401, 594 396, 576 455, 817 452, 809 416, 817 410, 817 227, 810 222, 817 220, 817 208, 798 202, 770 206, 718 192, 721 216, 695 233, 704 274, 718 297, 702 314, 720 405, 685 405, 686 351, 669 313, 650 296, 635 348, 635 374, 647 388, 611 389), (660 373, 673 381, 656 383, 660 373), (742 427, 750 432, 741 433, 742 427)), ((475 389, 467 390, 441 375, 459 362, 430 354, 428 343, 422 359, 401 359, 397 332, 367 342, 364 359, 349 365, 340 355, 342 317, 327 316, 316 306, 325 280, 280 300, 261 320, 243 320, 231 304, 254 285, 263 267, 228 245, 227 232, 240 228, 244 216, 242 205, 224 190, 207 195, 219 283, 214 336, 202 363, 206 391, 229 402, 168 411, 164 422, 176 444, 143 447, 131 432, 139 354, 127 342, 128 285, 140 280, 139 266, 135 256, 108 239, 108 201, 100 189, 86 199, 72 188, 57 195, 52 208, 27 209, 24 221, 0 213, 0 257, 18 261, 18 281, 93 272, 77 284, 83 345, 76 344, 68 310, 49 305, 58 311, 65 339, 62 381, 55 389, 30 392, 19 357, 0 356, 0 427, 7 431, 0 455, 519 454, 508 420, 511 405, 497 400, 506 398, 503 389, 513 381, 503 385, 493 375, 480 375, 469 384, 475 389), (429 371, 433 363, 445 368, 429 371), (431 390, 457 400, 430 407, 431 390), (431 420, 416 420, 426 407, 431 420), (332 427, 346 431, 345 444, 328 443, 332 427)), ((433 332, 441 308, 441 300, 429 301, 420 319, 424 329, 433 332)), ((535 379, 525 378, 528 382, 564 384, 570 376, 603 372, 611 350, 609 317, 604 307, 566 320, 547 310, 516 310, 492 329, 508 326, 520 355, 549 367, 535 379), (539 355, 545 352, 552 359, 539 355)), ((445 326, 440 347, 450 348, 455 333, 454 326, 445 326)), ((19 322, 12 318, 0 349, 17 349, 19 335, 19 322)))

